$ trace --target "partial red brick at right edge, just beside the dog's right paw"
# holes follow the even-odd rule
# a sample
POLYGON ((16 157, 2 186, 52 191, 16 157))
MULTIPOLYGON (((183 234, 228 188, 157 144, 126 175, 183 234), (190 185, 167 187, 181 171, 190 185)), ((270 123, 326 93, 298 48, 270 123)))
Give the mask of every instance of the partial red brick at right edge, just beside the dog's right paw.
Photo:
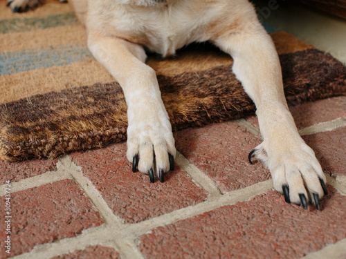
POLYGON ((346 175, 346 127, 306 135, 303 139, 315 151, 325 173, 346 175))

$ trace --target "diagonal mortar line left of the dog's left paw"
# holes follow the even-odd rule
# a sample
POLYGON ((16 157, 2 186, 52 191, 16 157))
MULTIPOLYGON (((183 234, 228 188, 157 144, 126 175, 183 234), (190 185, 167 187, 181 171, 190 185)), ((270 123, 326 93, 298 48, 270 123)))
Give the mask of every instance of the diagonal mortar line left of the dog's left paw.
POLYGON ((101 193, 95 188, 93 183, 83 175, 82 167, 77 166, 69 155, 64 155, 64 157, 60 158, 60 161, 62 162, 62 166, 69 170, 73 180, 75 180, 84 191, 86 197, 89 198, 94 207, 100 212, 104 222, 114 227, 120 227, 120 225, 122 225, 121 218, 113 213, 107 202, 102 198, 101 193))

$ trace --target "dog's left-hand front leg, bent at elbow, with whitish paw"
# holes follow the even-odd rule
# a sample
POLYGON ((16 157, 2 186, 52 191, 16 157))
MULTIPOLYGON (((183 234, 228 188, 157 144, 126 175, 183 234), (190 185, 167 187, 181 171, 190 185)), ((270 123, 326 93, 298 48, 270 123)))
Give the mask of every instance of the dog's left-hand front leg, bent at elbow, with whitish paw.
POLYGON ((89 32, 93 56, 116 78, 127 102, 127 159, 133 171, 163 174, 174 169, 176 149, 170 119, 161 99, 155 71, 145 62, 142 46, 89 32))

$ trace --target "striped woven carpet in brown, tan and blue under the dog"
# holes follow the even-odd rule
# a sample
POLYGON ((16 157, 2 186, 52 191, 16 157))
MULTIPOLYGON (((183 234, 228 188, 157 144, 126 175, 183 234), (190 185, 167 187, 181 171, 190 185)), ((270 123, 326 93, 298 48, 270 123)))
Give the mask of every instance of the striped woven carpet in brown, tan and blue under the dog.
MULTIPOLYGON (((126 140, 120 86, 86 48, 68 4, 12 14, 0 0, 0 157, 57 157, 126 140)), ((346 94, 346 68, 285 32, 267 28, 280 55, 289 105, 346 94)), ((209 44, 150 55, 174 131, 255 113, 232 59, 209 44)))

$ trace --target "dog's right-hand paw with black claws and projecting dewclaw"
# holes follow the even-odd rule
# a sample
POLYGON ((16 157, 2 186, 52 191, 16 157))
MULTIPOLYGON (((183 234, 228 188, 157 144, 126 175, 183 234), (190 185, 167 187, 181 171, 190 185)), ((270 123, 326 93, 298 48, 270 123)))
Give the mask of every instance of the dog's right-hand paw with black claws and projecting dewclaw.
POLYGON ((320 209, 320 199, 327 195, 326 178, 313 150, 303 140, 294 144, 277 144, 269 148, 265 142, 257 146, 248 158, 263 162, 271 171, 274 189, 284 195, 287 203, 302 205, 308 202, 320 209))

